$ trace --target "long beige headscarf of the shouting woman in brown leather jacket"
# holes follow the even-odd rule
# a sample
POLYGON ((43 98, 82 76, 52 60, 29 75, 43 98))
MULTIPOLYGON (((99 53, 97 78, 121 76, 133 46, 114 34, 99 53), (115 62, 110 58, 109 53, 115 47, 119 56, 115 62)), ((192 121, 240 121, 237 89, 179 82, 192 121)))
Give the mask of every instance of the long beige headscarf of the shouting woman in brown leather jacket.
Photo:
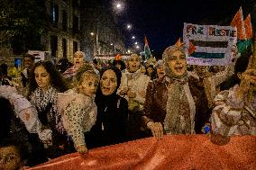
MULTIPOLYGON (((189 132, 194 132, 194 118, 196 114, 196 106, 194 103, 194 100, 192 98, 192 95, 189 90, 189 86, 187 83, 187 71, 182 76, 176 76, 173 74, 173 72, 170 70, 168 61, 172 57, 172 53, 176 50, 179 50, 184 53, 184 48, 182 46, 170 46, 169 48, 165 49, 163 52, 163 62, 164 67, 166 71, 166 79, 171 82, 168 85, 168 101, 167 101, 167 114, 164 120, 164 130, 167 133, 171 134, 178 134, 180 130, 178 130, 178 121, 179 121, 179 105, 184 97, 183 95, 186 95, 187 102, 189 104, 189 110, 190 110, 190 121, 191 121, 191 129, 189 132)), ((181 122, 181 126, 182 123, 181 122)))

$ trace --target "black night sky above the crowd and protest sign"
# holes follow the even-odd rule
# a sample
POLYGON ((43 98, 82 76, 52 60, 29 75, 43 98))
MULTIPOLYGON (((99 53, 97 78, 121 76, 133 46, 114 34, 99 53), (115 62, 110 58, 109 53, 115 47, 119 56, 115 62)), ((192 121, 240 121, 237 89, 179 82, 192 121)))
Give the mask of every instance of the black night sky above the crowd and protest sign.
MULTIPOLYGON (((117 0, 109 0, 112 7, 117 0)), ((182 37, 183 23, 228 25, 242 5, 244 18, 251 13, 253 0, 120 0, 122 13, 115 14, 119 25, 130 22, 131 31, 123 30, 126 47, 133 46, 132 36, 143 47, 147 36, 156 56, 182 37)), ((113 10, 114 12, 114 10, 113 10)))

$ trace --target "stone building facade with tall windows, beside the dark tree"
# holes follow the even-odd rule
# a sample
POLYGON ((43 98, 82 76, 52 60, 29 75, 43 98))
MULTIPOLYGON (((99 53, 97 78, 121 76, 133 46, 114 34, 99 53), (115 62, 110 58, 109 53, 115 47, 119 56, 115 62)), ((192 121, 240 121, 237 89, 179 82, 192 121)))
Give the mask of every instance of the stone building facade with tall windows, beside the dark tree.
POLYGON ((71 58, 82 40, 80 0, 46 0, 49 34, 42 38, 53 58, 71 58))

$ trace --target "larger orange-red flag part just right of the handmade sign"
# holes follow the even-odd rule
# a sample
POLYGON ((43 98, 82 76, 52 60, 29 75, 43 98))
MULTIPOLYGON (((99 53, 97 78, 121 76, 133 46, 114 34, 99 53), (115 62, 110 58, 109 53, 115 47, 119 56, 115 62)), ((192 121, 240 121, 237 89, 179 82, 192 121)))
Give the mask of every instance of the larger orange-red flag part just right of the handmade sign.
POLYGON ((245 40, 245 29, 244 29, 244 22, 243 22, 243 15, 242 15, 242 7, 239 8, 238 12, 235 13, 233 20, 231 22, 231 26, 237 28, 237 38, 239 40, 245 40))

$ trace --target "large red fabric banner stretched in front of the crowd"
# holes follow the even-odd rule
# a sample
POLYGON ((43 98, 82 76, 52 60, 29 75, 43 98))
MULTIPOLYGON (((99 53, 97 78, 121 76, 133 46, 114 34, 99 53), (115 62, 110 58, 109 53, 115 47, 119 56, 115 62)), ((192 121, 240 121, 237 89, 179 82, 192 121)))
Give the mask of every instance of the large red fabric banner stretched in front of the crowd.
POLYGON ((256 136, 237 136, 217 146, 203 135, 134 140, 50 160, 31 170, 79 169, 256 169, 256 136))

